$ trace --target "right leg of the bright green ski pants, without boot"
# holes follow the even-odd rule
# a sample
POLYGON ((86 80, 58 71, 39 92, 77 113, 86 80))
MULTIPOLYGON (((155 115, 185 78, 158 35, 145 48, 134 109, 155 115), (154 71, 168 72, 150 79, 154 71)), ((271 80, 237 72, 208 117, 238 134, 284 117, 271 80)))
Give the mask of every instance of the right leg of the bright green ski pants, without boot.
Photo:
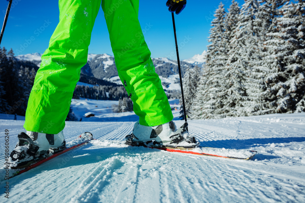
POLYGON ((103 0, 102 9, 118 74, 140 124, 156 126, 171 121, 173 114, 138 21, 139 1, 103 0))

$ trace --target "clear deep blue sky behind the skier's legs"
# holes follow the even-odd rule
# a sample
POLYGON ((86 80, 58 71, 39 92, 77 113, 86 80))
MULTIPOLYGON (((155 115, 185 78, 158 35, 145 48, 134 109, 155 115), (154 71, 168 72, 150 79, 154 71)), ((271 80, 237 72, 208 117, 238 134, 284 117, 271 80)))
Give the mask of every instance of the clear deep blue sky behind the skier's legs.
MULTIPOLYGON (((241 6, 244 1, 237 0, 237 2, 241 6)), ((166 0, 140 1, 139 21, 142 30, 145 30, 146 24, 151 25, 149 30, 144 31, 144 37, 152 57, 176 59, 176 55, 173 55, 175 41, 171 13, 168 12, 165 3, 166 0)), ((219 3, 220 1, 188 0, 185 9, 179 15, 175 14, 178 44, 187 38, 185 40, 187 43, 184 46, 179 46, 181 60, 191 58, 195 54, 201 54, 206 49, 207 37, 211 28, 210 23, 219 3)), ((231 0, 224 0, 222 3, 227 11, 231 0)), ((5 0, 0 2, 1 25, 7 5, 8 2, 5 0)), ((43 53, 48 47, 49 39, 58 21, 59 9, 56 0, 13 0, 1 47, 13 48, 16 55, 43 53), (49 22, 49 25, 45 21, 49 22), (43 31, 37 37, 37 29, 44 25, 45 27, 41 29, 43 31), (35 39, 31 40, 33 36, 35 39), (28 46, 24 50, 20 49, 24 43, 28 46), (17 50, 20 50, 18 54, 17 50)), ((102 8, 100 8, 95 20, 89 53, 113 55, 102 8)))

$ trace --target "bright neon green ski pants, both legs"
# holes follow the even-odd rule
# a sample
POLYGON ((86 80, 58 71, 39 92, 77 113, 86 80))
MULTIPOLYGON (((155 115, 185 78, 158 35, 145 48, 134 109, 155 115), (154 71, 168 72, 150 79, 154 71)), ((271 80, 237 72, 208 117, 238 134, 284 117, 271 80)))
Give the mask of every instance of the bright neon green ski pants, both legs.
MULTIPOLYGON (((59 24, 41 56, 26 111, 27 131, 57 134, 65 127, 80 70, 87 62, 91 31, 101 0, 59 0, 59 24)), ((173 119, 138 21, 139 0, 103 0, 119 77, 131 94, 140 124, 173 119)))

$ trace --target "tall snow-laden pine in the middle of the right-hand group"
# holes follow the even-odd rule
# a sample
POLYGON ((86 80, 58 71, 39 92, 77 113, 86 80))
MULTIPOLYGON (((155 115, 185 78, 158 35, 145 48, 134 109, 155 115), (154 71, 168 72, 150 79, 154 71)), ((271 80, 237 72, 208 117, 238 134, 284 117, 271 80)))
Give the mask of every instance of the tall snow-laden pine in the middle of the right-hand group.
POLYGON ((257 105, 260 76, 257 72, 257 61, 260 60, 260 36, 257 26, 259 2, 247 0, 242 5, 238 16, 238 23, 230 41, 228 72, 229 95, 233 101, 229 107, 234 108, 230 116, 248 116, 257 105))

